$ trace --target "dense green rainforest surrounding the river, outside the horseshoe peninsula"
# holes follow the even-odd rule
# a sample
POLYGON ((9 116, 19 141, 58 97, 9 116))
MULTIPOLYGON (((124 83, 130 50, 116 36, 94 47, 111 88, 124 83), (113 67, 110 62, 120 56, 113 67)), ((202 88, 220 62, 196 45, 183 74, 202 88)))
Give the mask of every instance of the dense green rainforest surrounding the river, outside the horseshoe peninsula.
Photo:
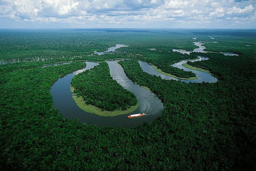
POLYGON ((244 36, 244 32, 256 30, 217 34, 222 32, 0 30, 0 168, 254 170, 256 39, 244 36), (197 48, 192 38, 209 42, 209 36, 219 42, 206 44, 208 51, 239 56, 172 52, 192 51, 197 48), (93 54, 115 44, 128 47, 111 54, 93 54), (217 82, 162 80, 143 72, 137 62, 149 62, 165 70, 175 61, 197 55, 209 60, 189 64, 209 70, 217 82), (65 118, 53 107, 52 84, 60 76, 85 67, 78 60, 101 62, 114 58, 135 59, 119 63, 129 79, 149 87, 163 102, 164 110, 156 120, 130 129, 99 127, 65 118), (40 67, 62 61, 76 62, 40 67))

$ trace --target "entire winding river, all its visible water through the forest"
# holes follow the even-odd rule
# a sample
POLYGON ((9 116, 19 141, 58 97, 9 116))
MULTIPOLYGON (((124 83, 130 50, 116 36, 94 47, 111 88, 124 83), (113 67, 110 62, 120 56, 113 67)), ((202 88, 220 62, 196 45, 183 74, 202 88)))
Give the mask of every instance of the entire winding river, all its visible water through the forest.
MULTIPOLYGON (((199 45, 199 44, 198 44, 199 45)), ((114 51, 118 47, 123 47, 125 45, 116 45, 114 47, 110 47, 108 51, 105 52, 96 52, 98 55, 102 55, 106 52, 114 51)), ((200 49, 199 51, 203 51, 205 49, 202 45, 199 45, 200 49)), ((195 49, 198 51, 198 49, 195 49)), ((199 61, 199 60, 207 60, 208 58, 205 57, 199 57, 199 59, 191 60, 191 61, 199 61)), ((135 127, 142 125, 144 122, 150 122, 156 118, 162 113, 163 110, 163 104, 161 100, 154 95, 153 93, 149 92, 148 90, 140 87, 137 84, 134 84, 130 79, 127 78, 126 74, 124 73, 123 68, 118 65, 116 62, 118 60, 114 61, 107 61, 108 66, 110 68, 110 74, 114 80, 116 80, 120 85, 124 87, 124 89, 127 89, 134 93, 134 95, 137 97, 139 102, 139 107, 130 114, 136 114, 136 113, 147 113, 146 116, 140 117, 140 118, 133 118, 129 119, 127 115, 118 115, 114 117, 110 116, 98 116, 96 114, 91 114, 84 112, 82 109, 80 109, 75 101, 72 98, 71 92, 70 92, 70 84, 73 77, 81 73, 85 70, 91 69, 98 65, 98 63, 95 62, 86 62, 86 68, 75 71, 71 74, 68 74, 64 76, 63 78, 59 78, 51 87, 50 93, 53 98, 53 105, 55 108, 58 109, 59 112, 63 114, 63 116, 69 118, 69 119, 75 119, 79 118, 81 122, 84 122, 88 125, 98 125, 98 126, 115 126, 115 127, 135 127)), ((149 74, 161 76, 162 79, 167 80, 179 80, 176 78, 173 78, 171 76, 163 75, 159 72, 157 72, 153 66, 149 65, 146 62, 138 61, 140 66, 142 67, 143 71, 149 74)), ((214 78, 212 75, 203 73, 200 71, 195 71, 191 69, 187 69, 182 66, 183 63, 186 63, 187 61, 181 61, 173 64, 174 67, 178 67, 180 69, 184 69, 186 71, 192 71, 196 74, 198 79, 196 80, 180 80, 183 82, 216 82, 217 79, 214 78)), ((63 64, 63 63, 62 63, 63 64)), ((47 65, 48 66, 48 65, 47 65)))

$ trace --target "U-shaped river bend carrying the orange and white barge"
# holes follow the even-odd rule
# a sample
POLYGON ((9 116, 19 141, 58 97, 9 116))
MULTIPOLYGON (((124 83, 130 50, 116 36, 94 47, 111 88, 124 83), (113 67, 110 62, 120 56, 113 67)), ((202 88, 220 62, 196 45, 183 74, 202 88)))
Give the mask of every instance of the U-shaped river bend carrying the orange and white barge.
POLYGON ((160 99, 149 92, 146 89, 134 84, 129 80, 123 71, 123 68, 115 63, 116 61, 108 61, 110 67, 110 74, 114 80, 117 80, 125 89, 132 91, 139 101, 139 107, 134 112, 135 113, 147 113, 146 116, 140 118, 129 119, 127 115, 118 115, 115 117, 104 117, 95 114, 87 113, 81 110, 74 102, 71 92, 70 84, 74 75, 83 72, 84 70, 91 69, 97 65, 94 62, 86 62, 86 68, 78 70, 74 73, 68 74, 63 78, 59 78, 55 84, 51 87, 50 93, 53 98, 53 105, 58 109, 64 117, 69 119, 79 118, 80 122, 84 122, 88 125, 98 125, 98 126, 115 126, 115 127, 135 127, 142 125, 144 122, 150 122, 156 119, 163 110, 163 104, 160 99))

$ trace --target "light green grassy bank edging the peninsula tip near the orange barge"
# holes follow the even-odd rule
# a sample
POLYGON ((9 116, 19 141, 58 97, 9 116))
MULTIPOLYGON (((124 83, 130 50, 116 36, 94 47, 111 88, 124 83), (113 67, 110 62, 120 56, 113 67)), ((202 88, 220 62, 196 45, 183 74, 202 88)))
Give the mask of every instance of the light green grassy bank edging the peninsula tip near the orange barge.
POLYGON ((74 99, 75 103, 77 104, 77 106, 84 110, 85 112, 88 113, 93 113, 99 116, 117 116, 117 115, 124 115, 124 114, 128 114, 133 112, 134 110, 136 110, 139 107, 139 103, 137 103, 135 106, 131 106, 130 108, 128 108, 127 110, 114 110, 114 111, 107 111, 107 110, 102 110, 96 106, 93 106, 91 104, 87 105, 84 102, 84 98, 82 98, 82 96, 78 97, 75 93, 74 93, 74 87, 70 86, 70 91, 72 93, 72 98, 74 99))

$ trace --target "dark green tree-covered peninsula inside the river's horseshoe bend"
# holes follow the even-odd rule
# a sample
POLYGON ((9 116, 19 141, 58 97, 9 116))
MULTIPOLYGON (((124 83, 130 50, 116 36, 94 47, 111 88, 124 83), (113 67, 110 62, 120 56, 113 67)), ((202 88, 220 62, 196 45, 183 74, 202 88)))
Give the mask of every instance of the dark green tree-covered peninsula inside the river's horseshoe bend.
POLYGON ((71 86, 74 93, 84 98, 86 104, 92 104, 103 110, 126 110, 138 101, 135 95, 113 80, 106 62, 75 75, 71 86))

